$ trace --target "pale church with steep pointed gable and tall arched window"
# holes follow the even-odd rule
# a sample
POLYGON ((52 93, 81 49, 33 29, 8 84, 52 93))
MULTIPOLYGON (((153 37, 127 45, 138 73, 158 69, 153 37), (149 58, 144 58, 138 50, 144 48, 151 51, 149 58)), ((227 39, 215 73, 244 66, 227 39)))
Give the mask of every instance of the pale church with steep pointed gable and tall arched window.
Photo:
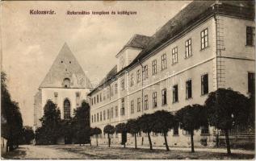
POLYGON ((39 119, 48 100, 61 110, 62 119, 69 119, 73 109, 87 99, 90 88, 89 79, 65 43, 35 95, 34 128, 41 126, 39 119))

